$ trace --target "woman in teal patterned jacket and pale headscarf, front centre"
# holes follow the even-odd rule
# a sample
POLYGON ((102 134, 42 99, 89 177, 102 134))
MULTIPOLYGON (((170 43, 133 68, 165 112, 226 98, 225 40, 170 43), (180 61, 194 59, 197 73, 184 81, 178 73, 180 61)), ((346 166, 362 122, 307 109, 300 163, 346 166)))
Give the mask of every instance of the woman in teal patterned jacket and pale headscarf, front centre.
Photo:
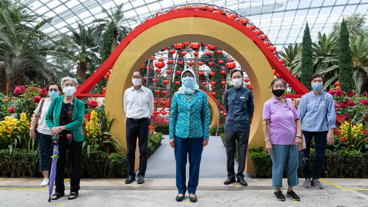
POLYGON ((173 96, 170 111, 169 136, 176 160, 177 201, 188 190, 189 199, 197 201, 195 190, 199 180, 199 165, 203 148, 209 139, 209 108, 207 94, 199 90, 193 70, 181 74, 182 87, 173 96), (189 157, 189 181, 185 185, 185 165, 189 157))

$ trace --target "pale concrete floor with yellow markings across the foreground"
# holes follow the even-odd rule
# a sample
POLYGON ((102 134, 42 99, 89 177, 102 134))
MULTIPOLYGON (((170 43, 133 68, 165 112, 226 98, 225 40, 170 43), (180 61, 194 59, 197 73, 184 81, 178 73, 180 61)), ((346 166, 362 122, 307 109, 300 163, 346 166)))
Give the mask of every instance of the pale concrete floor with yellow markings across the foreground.
MULTIPOLYGON (((310 189, 302 184, 294 187, 301 201, 277 201, 273 197, 271 179, 247 180, 248 186, 236 183, 223 185, 222 180, 201 179, 197 189, 197 203, 191 203, 188 195, 181 202, 175 201, 175 180, 146 180, 125 184, 125 179, 82 179, 79 196, 68 200, 70 185, 65 181, 66 196, 47 202, 47 187, 40 187, 42 179, 0 178, 1 207, 61 206, 61 207, 367 207, 368 179, 323 179, 324 189, 310 189), (325 181, 324 181, 325 180, 325 181)), ((300 183, 303 179, 300 179, 300 183)), ((287 180, 283 179, 284 187, 287 180)), ((284 195, 287 189, 283 188, 284 195)))

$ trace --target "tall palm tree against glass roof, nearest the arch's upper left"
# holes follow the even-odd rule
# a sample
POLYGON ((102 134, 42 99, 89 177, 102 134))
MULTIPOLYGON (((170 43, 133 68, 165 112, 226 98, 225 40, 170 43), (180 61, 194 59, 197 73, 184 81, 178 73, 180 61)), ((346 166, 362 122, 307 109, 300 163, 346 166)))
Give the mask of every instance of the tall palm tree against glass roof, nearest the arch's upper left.
POLYGON ((105 13, 108 18, 96 19, 92 21, 93 23, 100 23, 94 31, 95 36, 97 37, 100 36, 102 31, 104 31, 107 28, 107 25, 109 24, 110 21, 114 21, 114 38, 113 38, 113 45, 111 46, 111 52, 114 52, 114 50, 116 49, 118 41, 121 42, 125 38, 125 36, 127 36, 127 34, 132 30, 129 27, 123 26, 123 24, 126 21, 137 22, 137 20, 134 17, 125 18, 123 14, 123 7, 124 3, 119 4, 115 8, 115 10, 113 9, 113 7, 110 7, 109 10, 102 7, 101 10, 102 13, 105 13))

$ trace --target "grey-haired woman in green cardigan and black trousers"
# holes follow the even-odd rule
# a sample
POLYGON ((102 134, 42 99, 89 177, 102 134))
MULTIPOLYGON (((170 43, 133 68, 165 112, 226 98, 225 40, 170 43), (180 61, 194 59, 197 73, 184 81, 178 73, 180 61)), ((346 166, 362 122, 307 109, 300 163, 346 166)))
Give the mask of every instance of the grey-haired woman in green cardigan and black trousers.
POLYGON ((64 196, 64 168, 67 149, 72 164, 68 199, 77 198, 80 189, 82 144, 84 140, 82 124, 85 111, 84 103, 73 95, 77 85, 78 82, 75 78, 65 77, 61 79, 64 95, 52 100, 45 118, 47 126, 51 129, 54 143, 56 143, 56 140, 59 143, 59 158, 56 162, 56 187, 55 194, 51 197, 52 200, 64 196))

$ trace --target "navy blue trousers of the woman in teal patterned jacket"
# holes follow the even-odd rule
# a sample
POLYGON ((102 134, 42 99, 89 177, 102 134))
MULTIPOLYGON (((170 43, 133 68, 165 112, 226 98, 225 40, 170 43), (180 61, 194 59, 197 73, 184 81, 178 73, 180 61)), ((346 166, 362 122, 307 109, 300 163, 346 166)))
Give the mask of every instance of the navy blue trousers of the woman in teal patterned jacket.
POLYGON ((176 161, 176 187, 179 194, 184 194, 187 189, 188 193, 195 193, 199 180, 199 166, 202 158, 203 137, 198 138, 181 138, 175 136, 175 161, 176 161), (187 157, 189 158, 189 181, 188 188, 185 185, 185 166, 187 165, 187 157))

